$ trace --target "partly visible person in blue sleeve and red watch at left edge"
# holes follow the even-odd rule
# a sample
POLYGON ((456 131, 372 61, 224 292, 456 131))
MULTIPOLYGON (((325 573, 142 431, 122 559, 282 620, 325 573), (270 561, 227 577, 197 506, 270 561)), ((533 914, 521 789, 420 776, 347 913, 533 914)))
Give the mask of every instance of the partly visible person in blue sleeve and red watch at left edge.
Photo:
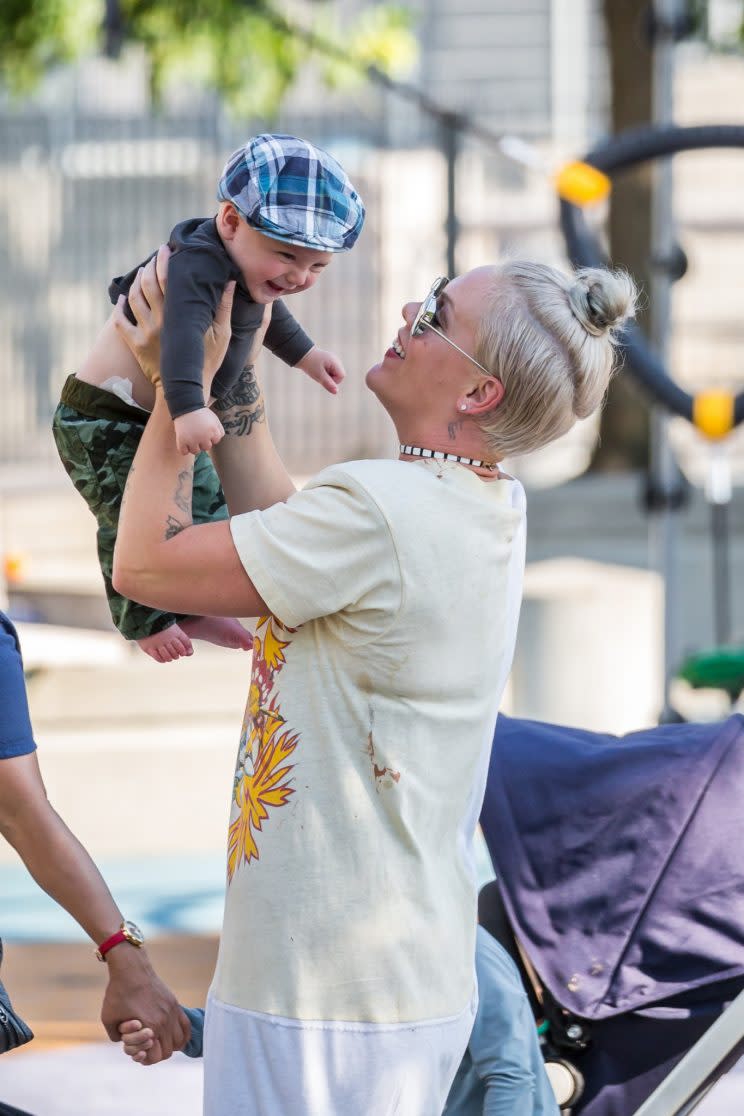
MULTIPOLYGON (((122 920, 100 873, 52 809, 31 731, 18 636, 0 612, 0 834, 40 887, 79 923, 106 961, 108 984, 102 1020, 112 1039, 118 1024, 143 1011, 152 1019, 154 1049, 168 1058, 189 1038, 189 1021, 155 975, 141 935, 122 920)), ((91 958, 93 965, 97 962, 91 958)), ((2 956, 0 943, 0 960, 2 956)), ((1 990, 1 985, 0 985, 1 990)), ((28 1041, 0 1012, 0 1052, 28 1041)), ((0 1113, 2 1105, 0 1104, 0 1113)))

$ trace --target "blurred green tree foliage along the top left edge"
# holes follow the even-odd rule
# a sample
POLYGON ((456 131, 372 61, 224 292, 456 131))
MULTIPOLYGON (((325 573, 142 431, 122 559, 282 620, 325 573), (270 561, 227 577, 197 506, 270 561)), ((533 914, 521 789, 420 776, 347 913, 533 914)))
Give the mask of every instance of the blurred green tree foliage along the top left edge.
POLYGON ((344 28, 334 15, 332 3, 280 10, 269 0, 2 0, 0 74, 22 95, 54 66, 139 45, 155 102, 168 83, 186 80, 216 89, 235 113, 269 115, 309 57, 334 86, 369 66, 395 75, 414 60, 403 9, 375 4, 344 28))

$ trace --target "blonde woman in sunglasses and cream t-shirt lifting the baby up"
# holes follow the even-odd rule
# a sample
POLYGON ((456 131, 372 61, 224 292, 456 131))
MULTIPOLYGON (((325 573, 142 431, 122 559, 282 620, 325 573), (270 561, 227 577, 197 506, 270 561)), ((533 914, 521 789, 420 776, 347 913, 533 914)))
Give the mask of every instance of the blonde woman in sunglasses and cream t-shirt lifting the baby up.
MULTIPOLYGON (((158 264, 161 279, 165 253, 158 264)), ((225 344, 225 291, 205 391, 225 344)), ((152 264, 117 328, 157 381, 152 264)), ((437 280, 367 385, 394 461, 301 492, 252 372, 215 448, 231 520, 191 523, 193 459, 157 393, 114 580, 161 608, 259 616, 206 1013, 205 1112, 432 1116, 475 1009, 471 840, 511 666, 524 498, 503 473, 599 406, 624 276, 511 262, 437 280)), ((152 1052, 148 1060, 153 1060, 152 1052)))

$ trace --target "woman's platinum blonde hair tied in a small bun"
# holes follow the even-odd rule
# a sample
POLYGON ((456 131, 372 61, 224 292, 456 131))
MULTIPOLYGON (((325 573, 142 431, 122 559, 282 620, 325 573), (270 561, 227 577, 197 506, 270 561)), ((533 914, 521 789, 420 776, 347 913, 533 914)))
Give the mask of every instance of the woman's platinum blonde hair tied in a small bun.
POLYGON ((495 268, 475 356, 504 385, 480 421, 494 455, 537 450, 600 406, 612 375, 615 330, 635 309, 625 271, 582 268, 568 276, 529 260, 495 268))

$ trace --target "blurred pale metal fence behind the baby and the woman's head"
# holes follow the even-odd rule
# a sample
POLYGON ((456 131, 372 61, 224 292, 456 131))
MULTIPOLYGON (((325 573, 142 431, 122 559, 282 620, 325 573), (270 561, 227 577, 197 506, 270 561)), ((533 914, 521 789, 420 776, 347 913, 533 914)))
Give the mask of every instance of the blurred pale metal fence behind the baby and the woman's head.
MULTIPOLYGON (((268 353, 271 424, 291 471, 386 453, 393 431, 364 373, 387 348, 400 305, 444 273, 446 163, 432 119, 385 96, 348 115, 280 118, 339 157, 363 194, 358 247, 334 260, 292 311, 340 355, 337 398, 268 353)), ((110 305, 112 276, 162 243, 178 221, 215 211, 226 155, 260 122, 230 125, 219 109, 177 116, 96 115, 66 102, 0 108, 0 465, 54 462, 49 425, 65 377, 83 360, 110 305)), ((503 251, 559 258, 550 184, 482 144, 461 142, 458 267, 503 251)))

